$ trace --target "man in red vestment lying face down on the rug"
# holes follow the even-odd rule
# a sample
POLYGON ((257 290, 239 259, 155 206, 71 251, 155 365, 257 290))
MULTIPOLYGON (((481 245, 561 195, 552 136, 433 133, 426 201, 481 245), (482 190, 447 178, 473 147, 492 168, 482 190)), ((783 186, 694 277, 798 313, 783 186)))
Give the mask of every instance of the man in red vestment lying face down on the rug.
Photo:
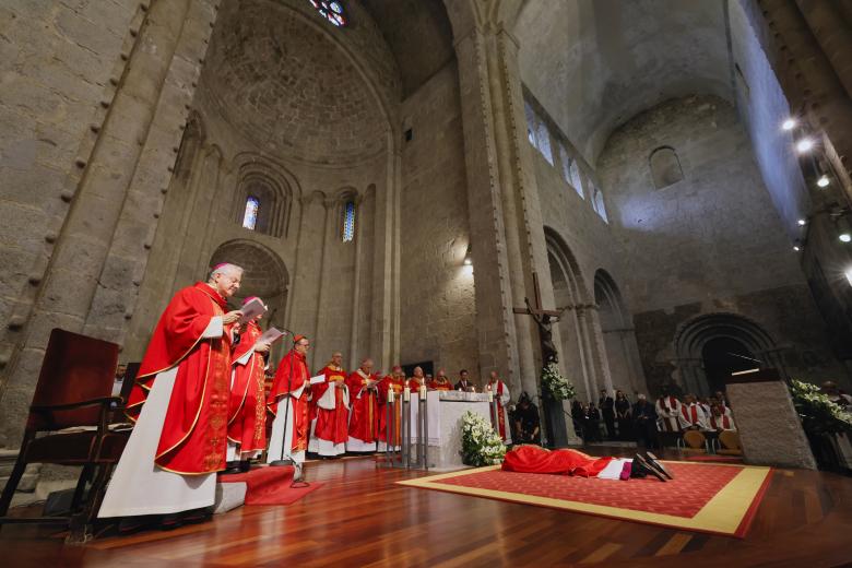
POLYGON ((594 458, 577 450, 546 450, 540 446, 520 446, 506 453, 502 471, 554 473, 599 480, 622 480, 653 475, 661 482, 672 478, 655 457, 632 459, 594 458))

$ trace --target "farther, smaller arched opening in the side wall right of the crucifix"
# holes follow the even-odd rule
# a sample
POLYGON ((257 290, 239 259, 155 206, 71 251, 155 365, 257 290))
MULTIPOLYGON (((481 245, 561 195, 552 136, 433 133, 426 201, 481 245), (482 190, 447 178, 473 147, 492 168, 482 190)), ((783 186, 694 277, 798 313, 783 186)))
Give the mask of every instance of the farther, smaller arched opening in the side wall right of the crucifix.
POLYGON ((613 386, 630 397, 644 389, 644 379, 636 343, 636 330, 618 284, 603 269, 594 273, 594 303, 604 340, 613 386))

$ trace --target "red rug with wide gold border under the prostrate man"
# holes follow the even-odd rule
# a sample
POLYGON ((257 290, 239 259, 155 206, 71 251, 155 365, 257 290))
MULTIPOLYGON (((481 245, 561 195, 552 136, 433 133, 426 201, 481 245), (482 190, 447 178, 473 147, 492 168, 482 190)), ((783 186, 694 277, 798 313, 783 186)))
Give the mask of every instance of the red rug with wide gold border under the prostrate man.
POLYGON ((504 472, 499 465, 397 483, 679 530, 746 535, 769 486, 770 468, 664 463, 675 477, 666 483, 504 472))

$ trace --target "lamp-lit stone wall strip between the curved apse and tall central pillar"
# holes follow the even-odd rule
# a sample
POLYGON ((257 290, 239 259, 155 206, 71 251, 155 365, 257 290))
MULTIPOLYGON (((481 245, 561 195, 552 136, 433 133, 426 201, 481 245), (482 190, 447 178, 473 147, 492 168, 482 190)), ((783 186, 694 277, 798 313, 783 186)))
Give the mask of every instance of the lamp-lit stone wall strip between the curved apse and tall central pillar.
POLYGON ((400 357, 434 360, 451 377, 468 368, 476 381, 476 269, 463 265, 470 229, 458 76, 452 61, 402 105, 411 140, 402 146, 400 357))

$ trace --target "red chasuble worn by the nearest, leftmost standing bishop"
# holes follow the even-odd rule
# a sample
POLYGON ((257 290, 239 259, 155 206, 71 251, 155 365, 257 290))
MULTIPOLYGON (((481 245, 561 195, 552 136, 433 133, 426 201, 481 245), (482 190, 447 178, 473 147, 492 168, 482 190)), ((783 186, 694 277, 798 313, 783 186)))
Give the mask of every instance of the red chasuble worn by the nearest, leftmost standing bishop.
POLYGON ((223 316, 225 298, 202 282, 179 291, 159 317, 147 345, 127 415, 135 422, 157 374, 177 366, 154 462, 181 474, 225 469, 229 333, 202 339, 213 317, 223 316))

